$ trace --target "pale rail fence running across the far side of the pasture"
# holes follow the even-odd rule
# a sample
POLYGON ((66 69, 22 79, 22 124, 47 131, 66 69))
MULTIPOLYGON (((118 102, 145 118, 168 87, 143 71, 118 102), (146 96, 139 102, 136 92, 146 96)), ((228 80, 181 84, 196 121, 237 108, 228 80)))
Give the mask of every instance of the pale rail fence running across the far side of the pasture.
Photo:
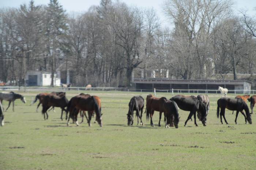
MULTIPOLYGON (((96 88, 85 88, 85 87, 25 87, 25 86, 1 86, 0 90, 7 91, 79 91, 79 90, 99 90, 99 91, 127 91, 127 92, 165 92, 165 93, 221 93, 219 90, 207 90, 207 89, 132 89, 132 88, 115 88, 115 87, 96 87, 96 88)), ((256 90, 229 90, 228 93, 234 94, 256 94, 256 90)))

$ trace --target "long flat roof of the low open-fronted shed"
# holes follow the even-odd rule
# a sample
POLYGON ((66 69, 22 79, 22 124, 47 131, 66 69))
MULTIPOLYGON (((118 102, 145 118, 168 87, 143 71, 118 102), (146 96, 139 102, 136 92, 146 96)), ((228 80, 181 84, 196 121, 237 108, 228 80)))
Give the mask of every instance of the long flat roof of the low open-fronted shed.
POLYGON ((231 84, 231 85, 243 85, 244 82, 252 84, 250 81, 246 80, 170 80, 168 78, 135 78, 133 83, 143 83, 143 84, 231 84))

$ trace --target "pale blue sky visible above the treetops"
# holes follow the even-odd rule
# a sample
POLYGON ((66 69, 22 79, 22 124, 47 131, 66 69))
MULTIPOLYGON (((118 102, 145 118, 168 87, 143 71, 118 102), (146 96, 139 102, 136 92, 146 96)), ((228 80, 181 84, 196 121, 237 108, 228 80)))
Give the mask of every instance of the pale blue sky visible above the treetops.
MULTIPOLYGON (((28 4, 30 0, 0 0, 1 7, 16 7, 18 8, 20 4, 28 4)), ((112 0, 115 1, 115 0, 112 0)), ((142 8, 151 8, 157 11, 158 17, 161 22, 168 26, 170 24, 168 18, 163 14, 162 4, 165 0, 120 0, 128 5, 136 5, 142 8)), ((36 5, 48 4, 49 0, 34 0, 36 5)), ((59 0, 63 8, 67 10, 68 13, 73 12, 84 12, 87 11, 91 5, 99 5, 100 0, 59 0)), ((256 15, 256 11, 253 10, 256 7, 256 0, 234 0, 234 9, 239 12, 241 9, 248 10, 249 15, 256 15)), ((170 24, 171 26, 171 24, 170 24)))

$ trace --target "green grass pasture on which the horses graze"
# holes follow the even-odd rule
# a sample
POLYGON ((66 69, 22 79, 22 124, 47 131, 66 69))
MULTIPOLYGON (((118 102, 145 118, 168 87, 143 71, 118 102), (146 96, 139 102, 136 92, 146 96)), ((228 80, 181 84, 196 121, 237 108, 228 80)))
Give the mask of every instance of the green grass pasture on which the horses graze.
MULTIPOLYGON (((188 112, 179 110, 179 128, 150 127, 143 113, 144 126, 127 126, 128 103, 132 96, 148 93, 83 91, 101 97, 103 127, 87 123, 70 124, 60 120, 60 109, 49 111, 44 120, 35 112, 38 104, 30 106, 39 92, 19 92, 27 103, 15 101, 5 113, 5 125, 0 127, 0 169, 255 169, 256 167, 256 115, 252 124, 245 124, 239 113, 226 111, 228 125, 217 119, 216 102, 220 94, 208 94, 211 100, 207 127, 197 119, 184 121, 188 112)), ((80 92, 67 92, 68 99, 80 92)), ((228 97, 234 97, 228 94, 228 97)), ((158 97, 172 97, 170 93, 157 93, 158 97)), ((249 104, 249 103, 248 103, 249 104)), ((3 102, 7 108, 7 102, 3 102)), ((144 112, 144 111, 143 111, 144 112)), ((79 121, 81 118, 79 118, 79 121)), ((158 125, 159 113, 155 112, 158 125)), ((71 121, 72 122, 72 121, 71 121)), ((224 122, 224 121, 223 121, 224 122)))

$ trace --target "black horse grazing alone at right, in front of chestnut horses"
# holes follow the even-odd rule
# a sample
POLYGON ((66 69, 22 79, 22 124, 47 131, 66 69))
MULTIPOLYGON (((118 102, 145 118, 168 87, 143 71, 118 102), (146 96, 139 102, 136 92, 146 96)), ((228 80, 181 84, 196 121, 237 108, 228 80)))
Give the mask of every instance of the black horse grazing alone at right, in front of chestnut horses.
POLYGON ((235 123, 237 124, 237 116, 238 113, 241 112, 242 115, 244 115, 245 118, 245 123, 247 123, 246 120, 249 121, 250 124, 252 124, 252 116, 251 113, 249 112, 249 108, 247 106, 247 104, 245 103, 245 101, 243 101, 241 98, 227 98, 227 97, 222 97, 217 101, 218 107, 217 107, 217 118, 219 118, 219 115, 221 115, 221 123, 222 122, 222 116, 227 123, 226 117, 225 117, 225 109, 229 109, 231 111, 237 111, 236 114, 236 119, 235 119, 235 123), (219 113, 219 108, 221 108, 221 113, 219 113), (245 110, 246 116, 243 112, 243 110, 245 110))

